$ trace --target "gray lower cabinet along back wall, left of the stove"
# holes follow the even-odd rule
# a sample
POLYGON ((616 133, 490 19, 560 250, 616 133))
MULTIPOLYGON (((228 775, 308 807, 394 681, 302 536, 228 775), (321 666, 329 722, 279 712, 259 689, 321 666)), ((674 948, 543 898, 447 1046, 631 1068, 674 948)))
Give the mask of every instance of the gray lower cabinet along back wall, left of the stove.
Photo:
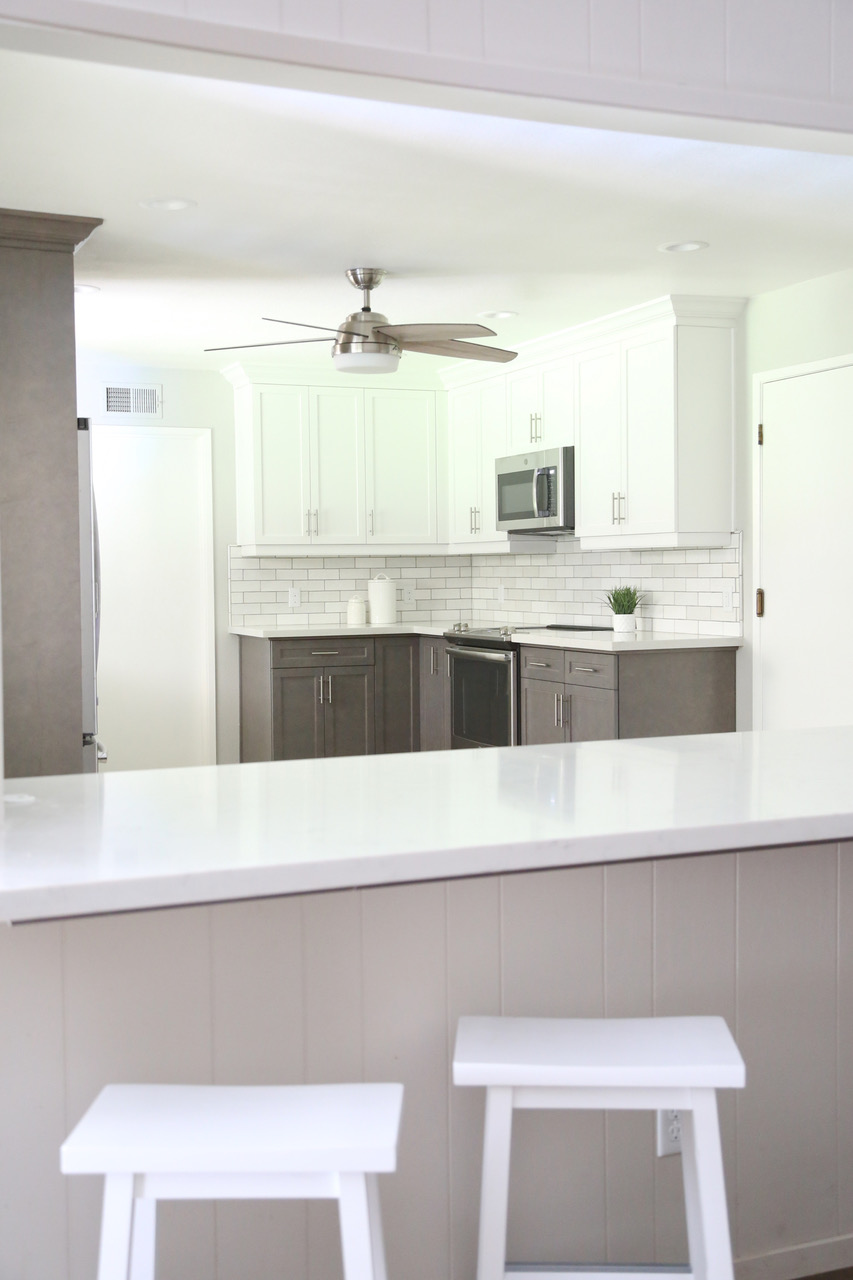
POLYGON ((418 749, 418 641, 311 636, 240 643, 240 758, 418 749))

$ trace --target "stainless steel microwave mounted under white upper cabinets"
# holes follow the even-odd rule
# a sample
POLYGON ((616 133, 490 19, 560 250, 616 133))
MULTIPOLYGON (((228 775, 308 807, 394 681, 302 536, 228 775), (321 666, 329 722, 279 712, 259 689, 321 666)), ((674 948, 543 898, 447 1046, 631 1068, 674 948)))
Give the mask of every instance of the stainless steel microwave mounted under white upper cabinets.
POLYGON ((497 527, 558 532, 575 527, 575 451, 540 449, 497 458, 497 527))

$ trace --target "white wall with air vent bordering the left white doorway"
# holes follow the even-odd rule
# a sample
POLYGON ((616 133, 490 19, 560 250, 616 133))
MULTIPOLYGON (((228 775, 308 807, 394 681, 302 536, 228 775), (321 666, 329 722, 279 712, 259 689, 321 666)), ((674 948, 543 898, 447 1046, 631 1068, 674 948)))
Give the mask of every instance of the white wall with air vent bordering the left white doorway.
MULTIPOLYGON (((92 422, 105 422, 100 412, 105 381, 136 385, 161 384, 163 426, 202 426, 211 429, 214 490, 214 603, 216 631, 216 759, 232 764, 238 759, 238 641, 228 634, 228 544, 236 538, 234 498, 234 408, 233 392, 215 372, 177 369, 149 369, 119 365, 97 353, 78 353, 78 415, 92 422)), ((128 421, 138 421, 129 419, 128 421)))

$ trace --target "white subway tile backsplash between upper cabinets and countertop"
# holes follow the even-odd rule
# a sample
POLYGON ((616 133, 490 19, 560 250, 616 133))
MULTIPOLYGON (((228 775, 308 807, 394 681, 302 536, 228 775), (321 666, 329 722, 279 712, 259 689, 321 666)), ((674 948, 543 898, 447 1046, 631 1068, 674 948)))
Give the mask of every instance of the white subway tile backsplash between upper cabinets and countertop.
POLYGON ((602 625, 605 595, 630 584, 643 593, 643 630, 739 636, 740 539, 698 550, 581 552, 562 539, 556 552, 525 556, 252 556, 229 548, 232 627, 343 626, 347 600, 368 598, 368 580, 398 584, 400 622, 459 621, 542 626, 602 625), (403 603, 402 588, 414 593, 403 603), (288 604, 289 591, 300 603, 288 604))

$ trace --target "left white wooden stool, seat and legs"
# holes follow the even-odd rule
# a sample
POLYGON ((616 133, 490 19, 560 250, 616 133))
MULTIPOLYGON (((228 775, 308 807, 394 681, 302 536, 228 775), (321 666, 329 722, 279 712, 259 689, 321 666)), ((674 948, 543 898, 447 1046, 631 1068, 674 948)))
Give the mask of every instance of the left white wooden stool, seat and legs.
POLYGON ((386 1280, 377 1174, 402 1084, 108 1084, 61 1147, 104 1174, 99 1280, 154 1280, 159 1199, 337 1199, 345 1280, 386 1280))

